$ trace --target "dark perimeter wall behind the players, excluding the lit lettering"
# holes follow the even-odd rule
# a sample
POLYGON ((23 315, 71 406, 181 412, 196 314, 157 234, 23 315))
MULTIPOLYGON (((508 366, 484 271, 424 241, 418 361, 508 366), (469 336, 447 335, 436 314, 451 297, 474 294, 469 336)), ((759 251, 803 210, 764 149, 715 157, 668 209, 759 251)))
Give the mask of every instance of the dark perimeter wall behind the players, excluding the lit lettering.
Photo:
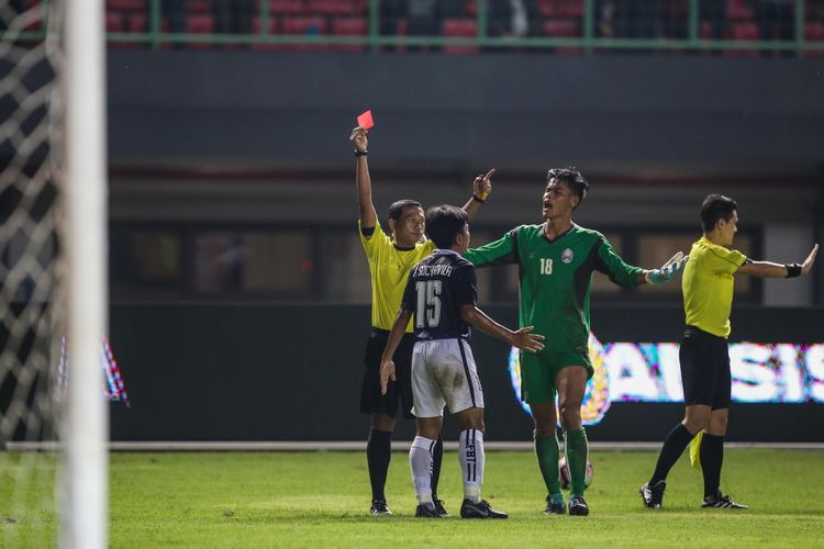
MULTIPOLYGON (((486 309, 510 325, 512 307, 486 309)), ((671 307, 597 307, 601 341, 677 341, 682 313, 671 307)), ((824 310, 736 310, 734 340, 822 343, 824 310)), ((115 441, 360 440, 358 412, 368 306, 286 304, 115 304, 111 344, 131 407, 112 403, 115 441)), ((478 334, 490 440, 528 440, 506 370, 505 345, 478 334)), ((683 413, 678 403, 613 403, 588 429, 595 441, 660 440, 683 413)), ((732 441, 824 441, 823 404, 739 404, 732 441)), ((446 421, 447 436, 455 436, 446 421)), ((412 422, 398 436, 412 437, 412 422)))

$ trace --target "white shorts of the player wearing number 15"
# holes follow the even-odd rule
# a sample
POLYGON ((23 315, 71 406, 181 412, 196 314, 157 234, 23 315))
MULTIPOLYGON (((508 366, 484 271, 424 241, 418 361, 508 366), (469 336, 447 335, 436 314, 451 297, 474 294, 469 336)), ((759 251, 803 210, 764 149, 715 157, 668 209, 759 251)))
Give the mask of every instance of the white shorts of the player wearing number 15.
POLYGON ((416 341, 412 351, 412 413, 441 417, 483 407, 483 391, 469 344, 463 339, 416 341))

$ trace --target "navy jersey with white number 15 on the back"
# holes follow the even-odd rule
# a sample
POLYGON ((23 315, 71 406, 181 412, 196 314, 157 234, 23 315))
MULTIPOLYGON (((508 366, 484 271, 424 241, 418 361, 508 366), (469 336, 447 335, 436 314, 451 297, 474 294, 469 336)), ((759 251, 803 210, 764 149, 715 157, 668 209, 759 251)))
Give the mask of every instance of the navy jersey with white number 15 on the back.
POLYGON ((436 249, 412 268, 401 307, 412 311, 417 339, 468 338, 460 305, 478 302, 475 267, 450 249, 436 249))

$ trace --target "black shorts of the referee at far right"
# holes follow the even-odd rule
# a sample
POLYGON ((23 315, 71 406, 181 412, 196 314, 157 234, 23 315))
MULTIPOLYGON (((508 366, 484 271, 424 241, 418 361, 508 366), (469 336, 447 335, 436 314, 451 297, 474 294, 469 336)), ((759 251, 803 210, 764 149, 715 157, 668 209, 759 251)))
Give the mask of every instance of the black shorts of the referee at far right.
POLYGON ((730 351, 723 337, 687 326, 678 352, 683 382, 683 403, 712 410, 730 407, 732 380, 730 351))

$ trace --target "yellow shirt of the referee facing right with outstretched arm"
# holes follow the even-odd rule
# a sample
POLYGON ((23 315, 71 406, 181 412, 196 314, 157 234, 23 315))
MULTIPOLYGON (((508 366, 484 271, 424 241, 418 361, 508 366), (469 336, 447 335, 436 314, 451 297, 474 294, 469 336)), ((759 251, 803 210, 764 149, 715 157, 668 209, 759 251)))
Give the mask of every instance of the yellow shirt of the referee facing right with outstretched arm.
POLYGON ((681 279, 688 326, 730 336, 733 274, 746 260, 741 251, 713 244, 705 236, 692 245, 681 279))

